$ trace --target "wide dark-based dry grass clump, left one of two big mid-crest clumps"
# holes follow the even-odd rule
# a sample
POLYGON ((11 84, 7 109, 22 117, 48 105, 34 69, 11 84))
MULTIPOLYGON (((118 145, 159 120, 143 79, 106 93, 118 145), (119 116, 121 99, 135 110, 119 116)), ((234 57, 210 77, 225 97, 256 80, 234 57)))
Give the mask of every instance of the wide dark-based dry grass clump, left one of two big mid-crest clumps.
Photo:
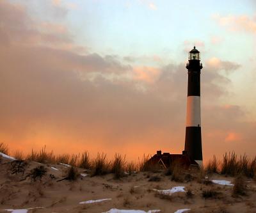
POLYGON ((106 154, 99 154, 94 159, 92 164, 92 176, 95 175, 106 175, 109 173, 109 164, 108 160, 106 159, 106 154))

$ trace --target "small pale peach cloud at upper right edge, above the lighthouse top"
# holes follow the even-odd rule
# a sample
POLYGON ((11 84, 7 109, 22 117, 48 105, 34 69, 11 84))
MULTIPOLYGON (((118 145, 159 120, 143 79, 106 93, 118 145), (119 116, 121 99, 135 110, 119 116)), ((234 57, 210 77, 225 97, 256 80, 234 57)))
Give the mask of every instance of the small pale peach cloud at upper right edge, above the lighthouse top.
POLYGON ((225 26, 231 31, 246 31, 249 33, 256 33, 255 17, 249 17, 248 15, 221 16, 219 14, 215 14, 214 19, 221 26, 225 26))

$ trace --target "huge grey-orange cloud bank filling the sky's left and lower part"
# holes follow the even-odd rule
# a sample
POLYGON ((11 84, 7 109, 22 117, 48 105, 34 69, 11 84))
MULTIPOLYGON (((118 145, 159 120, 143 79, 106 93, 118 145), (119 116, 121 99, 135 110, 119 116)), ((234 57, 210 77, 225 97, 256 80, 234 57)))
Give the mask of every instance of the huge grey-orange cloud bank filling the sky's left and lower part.
MULTIPOLYGON (((159 148, 182 151, 184 64, 132 67, 120 56, 63 49, 77 46, 68 29, 36 22, 19 4, 0 1, 0 18, 0 137, 12 149, 47 145, 57 153, 120 152, 129 159, 159 148)), ((223 68, 236 66, 215 59, 202 70, 204 154, 252 154, 255 123, 241 121, 241 107, 218 102, 230 86, 223 68), (232 147, 222 143, 228 132, 241 136, 232 147)))

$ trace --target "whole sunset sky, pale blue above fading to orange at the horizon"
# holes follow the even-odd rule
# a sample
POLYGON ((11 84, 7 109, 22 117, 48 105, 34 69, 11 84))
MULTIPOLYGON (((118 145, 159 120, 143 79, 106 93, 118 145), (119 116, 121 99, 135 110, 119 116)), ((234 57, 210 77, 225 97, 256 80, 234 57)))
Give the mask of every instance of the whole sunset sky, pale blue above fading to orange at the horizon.
POLYGON ((0 142, 25 153, 181 153, 194 45, 204 159, 253 157, 254 0, 1 0, 0 142))

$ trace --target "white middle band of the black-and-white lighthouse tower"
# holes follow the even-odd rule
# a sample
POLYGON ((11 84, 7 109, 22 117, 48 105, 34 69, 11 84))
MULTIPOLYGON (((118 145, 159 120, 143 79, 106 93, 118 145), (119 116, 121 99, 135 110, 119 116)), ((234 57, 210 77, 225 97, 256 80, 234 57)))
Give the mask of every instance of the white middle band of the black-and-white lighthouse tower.
POLYGON ((188 96, 186 127, 201 127, 200 96, 188 96))

